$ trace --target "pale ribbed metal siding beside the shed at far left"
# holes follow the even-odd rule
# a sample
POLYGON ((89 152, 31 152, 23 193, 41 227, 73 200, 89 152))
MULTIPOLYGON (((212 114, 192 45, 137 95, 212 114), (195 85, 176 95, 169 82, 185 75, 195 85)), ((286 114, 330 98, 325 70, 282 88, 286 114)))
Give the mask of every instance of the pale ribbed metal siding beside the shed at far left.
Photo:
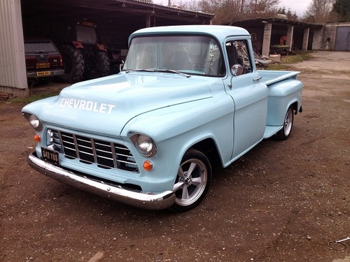
POLYGON ((20 0, 0 0, 0 86, 27 89, 20 0))

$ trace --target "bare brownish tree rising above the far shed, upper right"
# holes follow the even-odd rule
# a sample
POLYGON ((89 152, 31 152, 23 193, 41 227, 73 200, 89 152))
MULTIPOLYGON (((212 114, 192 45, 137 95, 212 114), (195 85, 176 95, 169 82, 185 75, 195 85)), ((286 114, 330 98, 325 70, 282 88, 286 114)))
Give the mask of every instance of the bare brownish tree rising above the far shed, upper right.
POLYGON ((330 19, 335 0, 312 0, 307 7, 307 22, 324 23, 330 19))

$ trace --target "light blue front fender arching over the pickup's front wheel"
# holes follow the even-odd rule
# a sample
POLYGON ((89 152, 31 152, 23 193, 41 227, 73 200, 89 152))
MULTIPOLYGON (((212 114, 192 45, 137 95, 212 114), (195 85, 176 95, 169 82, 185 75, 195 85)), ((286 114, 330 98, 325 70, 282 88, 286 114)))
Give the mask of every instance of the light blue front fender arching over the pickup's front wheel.
POLYGON ((195 143, 207 138, 214 140, 222 161, 229 161, 233 150, 234 109, 232 98, 227 94, 172 105, 134 117, 120 136, 126 138, 130 132, 151 136, 158 150, 150 159, 152 173, 155 177, 170 175, 174 182, 183 155, 195 143))

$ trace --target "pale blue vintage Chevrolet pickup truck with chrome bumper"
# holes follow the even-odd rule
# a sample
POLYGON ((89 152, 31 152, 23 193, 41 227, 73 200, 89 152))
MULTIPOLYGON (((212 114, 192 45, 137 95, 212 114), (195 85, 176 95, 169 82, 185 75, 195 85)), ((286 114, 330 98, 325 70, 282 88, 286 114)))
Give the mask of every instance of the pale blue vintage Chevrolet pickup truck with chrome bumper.
POLYGON ((299 72, 258 71, 239 27, 134 32, 117 75, 26 105, 32 168, 140 208, 195 208, 223 167, 264 138, 286 140, 302 112, 299 72))

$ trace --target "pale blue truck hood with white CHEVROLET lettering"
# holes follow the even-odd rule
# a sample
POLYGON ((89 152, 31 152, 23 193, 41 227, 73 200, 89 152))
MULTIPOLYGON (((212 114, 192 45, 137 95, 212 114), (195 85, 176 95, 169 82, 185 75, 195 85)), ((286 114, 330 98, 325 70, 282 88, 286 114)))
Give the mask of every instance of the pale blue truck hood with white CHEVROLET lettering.
POLYGON ((130 119, 144 112, 211 97, 210 81, 214 80, 122 72, 64 88, 37 117, 55 126, 119 136, 130 119))

